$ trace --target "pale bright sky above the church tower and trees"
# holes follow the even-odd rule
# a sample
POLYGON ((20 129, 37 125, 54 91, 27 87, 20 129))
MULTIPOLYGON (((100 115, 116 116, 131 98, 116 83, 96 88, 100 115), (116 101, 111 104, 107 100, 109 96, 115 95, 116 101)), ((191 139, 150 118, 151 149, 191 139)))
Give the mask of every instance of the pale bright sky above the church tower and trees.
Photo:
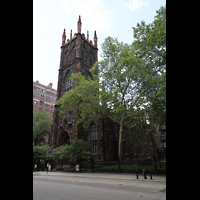
POLYGON ((53 83, 57 89, 62 34, 66 40, 77 33, 81 15, 81 32, 93 41, 96 30, 98 60, 101 44, 108 36, 131 44, 133 29, 142 20, 151 23, 164 0, 33 0, 33 81, 53 83))

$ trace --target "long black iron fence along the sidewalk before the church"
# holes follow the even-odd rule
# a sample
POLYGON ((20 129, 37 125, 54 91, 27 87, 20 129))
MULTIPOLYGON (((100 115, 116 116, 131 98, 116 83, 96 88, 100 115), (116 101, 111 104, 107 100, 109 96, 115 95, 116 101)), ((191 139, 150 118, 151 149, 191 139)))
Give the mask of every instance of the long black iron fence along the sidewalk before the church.
MULTIPOLYGON (((93 161, 90 162, 77 162, 70 166, 74 166, 71 170, 75 170, 76 166, 79 165, 79 170, 82 172, 118 172, 118 173, 139 173, 142 174, 145 170, 152 174, 166 174, 166 160, 159 160, 154 158, 154 160, 136 160, 136 161, 123 161, 123 162, 100 162, 93 161)), ((67 170, 69 169, 68 160, 63 161, 51 161, 52 169, 54 170, 67 170)))

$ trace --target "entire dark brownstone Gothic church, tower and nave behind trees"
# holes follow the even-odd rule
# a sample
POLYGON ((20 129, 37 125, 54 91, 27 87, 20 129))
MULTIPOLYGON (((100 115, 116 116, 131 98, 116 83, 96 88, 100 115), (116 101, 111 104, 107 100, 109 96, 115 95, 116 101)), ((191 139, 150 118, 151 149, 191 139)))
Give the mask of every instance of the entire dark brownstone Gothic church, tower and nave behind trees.
MULTIPOLYGON (((57 99, 71 89, 72 73, 81 72, 85 78, 90 76, 89 69, 98 61, 97 33, 94 31, 94 40, 89 40, 81 33, 81 17, 77 22, 77 33, 66 41, 65 29, 62 35, 62 46, 60 56, 60 68, 58 74, 57 99)), ((58 147, 69 143, 73 139, 84 139, 91 141, 91 155, 95 161, 116 161, 118 156, 119 125, 109 118, 100 119, 90 124, 88 130, 79 125, 76 126, 76 119, 73 113, 64 118, 58 115, 57 105, 54 108, 53 121, 49 137, 49 144, 58 147)), ((125 131, 127 132, 127 131, 125 131)), ((147 133, 144 144, 130 142, 130 134, 123 136, 123 159, 135 160, 152 158, 157 152, 154 135, 147 133)))

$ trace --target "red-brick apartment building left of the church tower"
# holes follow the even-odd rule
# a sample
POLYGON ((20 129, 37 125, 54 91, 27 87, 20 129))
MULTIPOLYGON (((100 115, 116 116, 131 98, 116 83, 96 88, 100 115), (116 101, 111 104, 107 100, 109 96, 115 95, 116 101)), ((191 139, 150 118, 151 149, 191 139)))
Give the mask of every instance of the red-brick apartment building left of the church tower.
POLYGON ((52 83, 47 86, 33 82, 33 111, 45 110, 53 119, 54 105, 57 98, 57 90, 52 88, 52 83))

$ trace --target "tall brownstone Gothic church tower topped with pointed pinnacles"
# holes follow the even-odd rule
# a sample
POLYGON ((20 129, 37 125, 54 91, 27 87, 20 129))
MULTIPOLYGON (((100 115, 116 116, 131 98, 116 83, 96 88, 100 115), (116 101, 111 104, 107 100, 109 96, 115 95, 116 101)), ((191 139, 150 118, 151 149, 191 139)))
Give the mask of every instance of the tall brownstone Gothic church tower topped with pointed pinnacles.
MULTIPOLYGON (((60 56, 60 67, 58 72, 57 99, 71 89, 71 80, 69 77, 72 73, 81 72, 86 78, 90 76, 89 69, 98 61, 97 34, 94 31, 94 41, 89 41, 89 32, 87 38, 81 33, 81 16, 77 22, 77 33, 72 37, 70 30, 70 38, 66 41, 66 31, 64 29, 62 35, 62 46, 60 56)), ((78 127, 76 127, 76 119, 73 113, 69 117, 60 117, 58 115, 57 105, 55 105, 53 122, 49 137, 49 144, 57 147, 69 140, 76 139, 78 136, 78 127)))

